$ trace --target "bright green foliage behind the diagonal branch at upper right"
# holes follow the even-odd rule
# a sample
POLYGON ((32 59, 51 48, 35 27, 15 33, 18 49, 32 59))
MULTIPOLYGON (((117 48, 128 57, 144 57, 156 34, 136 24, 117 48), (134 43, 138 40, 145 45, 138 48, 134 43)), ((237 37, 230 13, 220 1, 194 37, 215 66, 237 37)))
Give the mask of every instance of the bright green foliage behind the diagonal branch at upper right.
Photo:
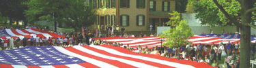
MULTIPOLYGON (((214 27, 218 26, 226 26, 226 25, 233 25, 225 15, 218 9, 215 5, 214 1, 212 0, 189 0, 189 3, 192 3, 195 12, 198 14, 196 18, 201 21, 201 24, 214 27)), ((236 0, 218 0, 218 3, 223 6, 223 8, 227 11, 229 16, 232 18, 236 18, 236 20, 241 20, 241 5, 236 0)), ((256 14, 253 14, 255 17, 256 14)), ((255 18, 253 18, 255 20, 255 18)), ((252 21, 255 22, 255 21, 252 21)))

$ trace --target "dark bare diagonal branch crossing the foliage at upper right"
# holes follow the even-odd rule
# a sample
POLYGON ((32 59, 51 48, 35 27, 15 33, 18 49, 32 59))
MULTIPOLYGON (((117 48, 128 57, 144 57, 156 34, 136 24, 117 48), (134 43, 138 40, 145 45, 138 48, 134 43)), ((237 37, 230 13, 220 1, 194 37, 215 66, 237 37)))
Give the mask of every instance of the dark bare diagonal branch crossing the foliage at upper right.
POLYGON ((233 24, 236 24, 238 27, 241 27, 242 24, 240 24, 236 19, 232 18, 231 16, 229 16, 229 14, 224 10, 223 6, 221 6, 217 0, 213 0, 214 3, 218 6, 218 9, 221 10, 221 12, 223 12, 223 14, 225 14, 225 16, 227 17, 227 19, 230 20, 230 22, 232 22, 233 24))

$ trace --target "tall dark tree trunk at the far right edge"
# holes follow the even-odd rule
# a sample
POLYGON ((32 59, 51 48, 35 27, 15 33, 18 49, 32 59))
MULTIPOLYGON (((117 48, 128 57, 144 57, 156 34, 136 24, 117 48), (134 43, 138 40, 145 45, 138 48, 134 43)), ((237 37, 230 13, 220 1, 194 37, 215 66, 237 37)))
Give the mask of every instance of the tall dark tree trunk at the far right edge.
POLYGON ((251 13, 246 14, 246 10, 253 8, 253 1, 251 0, 242 0, 241 2, 241 18, 242 18, 242 27, 240 44, 240 68, 250 68, 250 43, 251 43, 251 27, 248 27, 246 24, 251 24, 251 13))

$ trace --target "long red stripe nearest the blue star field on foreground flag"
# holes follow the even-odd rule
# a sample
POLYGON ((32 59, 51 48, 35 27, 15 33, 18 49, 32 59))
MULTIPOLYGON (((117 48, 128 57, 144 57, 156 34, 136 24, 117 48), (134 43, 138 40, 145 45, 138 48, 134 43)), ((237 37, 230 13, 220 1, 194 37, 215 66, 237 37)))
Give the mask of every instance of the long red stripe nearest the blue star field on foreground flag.
POLYGON ((107 59, 107 58, 102 58, 102 57, 99 57, 99 56, 94 56, 94 55, 88 54, 86 52, 81 52, 80 50, 76 50, 75 48, 72 48, 72 47, 65 48, 65 49, 69 50, 70 52, 74 52, 76 54, 80 54, 82 56, 87 56, 89 58, 94 58, 94 59, 96 59, 98 61, 109 63, 109 64, 114 65, 116 67, 134 68, 134 66, 132 66, 132 65, 128 65, 126 63, 122 63, 122 62, 119 62, 119 61, 116 61, 116 60, 110 60, 110 59, 107 59))

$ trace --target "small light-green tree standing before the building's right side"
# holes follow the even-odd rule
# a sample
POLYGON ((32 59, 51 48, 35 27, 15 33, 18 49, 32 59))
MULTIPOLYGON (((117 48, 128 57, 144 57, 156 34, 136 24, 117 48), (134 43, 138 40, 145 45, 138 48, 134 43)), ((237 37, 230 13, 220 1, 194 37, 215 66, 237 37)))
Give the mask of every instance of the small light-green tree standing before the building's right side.
POLYGON ((168 46, 183 46, 184 44, 191 44, 190 41, 187 41, 189 37, 193 37, 194 34, 191 32, 191 28, 188 26, 188 22, 181 20, 180 13, 173 12, 170 13, 172 16, 169 22, 166 22, 167 25, 173 26, 173 28, 165 31, 160 37, 167 37, 164 45, 168 46))

